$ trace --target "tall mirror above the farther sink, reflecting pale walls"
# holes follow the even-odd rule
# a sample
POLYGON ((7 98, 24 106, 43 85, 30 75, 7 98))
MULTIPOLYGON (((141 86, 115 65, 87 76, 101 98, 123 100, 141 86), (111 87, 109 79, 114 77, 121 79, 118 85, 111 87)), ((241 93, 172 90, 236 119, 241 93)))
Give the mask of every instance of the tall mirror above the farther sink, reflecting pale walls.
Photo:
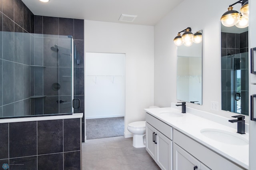
POLYGON ((177 100, 202 105, 202 42, 177 46, 177 100))

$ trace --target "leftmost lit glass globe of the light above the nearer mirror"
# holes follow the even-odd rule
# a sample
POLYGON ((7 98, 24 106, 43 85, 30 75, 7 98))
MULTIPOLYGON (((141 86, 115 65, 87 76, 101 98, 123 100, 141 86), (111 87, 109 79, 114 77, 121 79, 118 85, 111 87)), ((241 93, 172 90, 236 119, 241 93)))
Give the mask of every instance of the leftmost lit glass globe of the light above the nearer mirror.
POLYGON ((236 10, 233 10, 233 7, 228 7, 228 11, 225 12, 221 18, 221 23, 226 27, 232 27, 234 26, 240 18, 240 13, 236 10))

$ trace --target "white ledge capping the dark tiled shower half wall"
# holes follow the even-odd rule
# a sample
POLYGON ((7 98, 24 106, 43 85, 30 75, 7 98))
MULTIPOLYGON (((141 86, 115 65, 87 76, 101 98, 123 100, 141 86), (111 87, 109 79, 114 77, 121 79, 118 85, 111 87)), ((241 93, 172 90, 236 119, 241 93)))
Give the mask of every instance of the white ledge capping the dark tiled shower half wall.
POLYGON ((49 121, 49 120, 57 120, 57 119, 76 119, 76 118, 82 118, 83 115, 84 115, 83 113, 74 113, 72 115, 56 115, 56 116, 10 118, 10 119, 0 119, 0 123, 30 122, 30 121, 49 121))

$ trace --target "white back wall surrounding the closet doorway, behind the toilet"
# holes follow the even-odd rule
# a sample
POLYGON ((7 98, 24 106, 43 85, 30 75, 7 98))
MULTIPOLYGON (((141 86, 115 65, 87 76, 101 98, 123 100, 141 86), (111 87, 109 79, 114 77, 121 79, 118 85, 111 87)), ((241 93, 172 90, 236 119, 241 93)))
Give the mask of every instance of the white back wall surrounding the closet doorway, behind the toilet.
POLYGON ((126 54, 125 135, 131 136, 128 123, 145 120, 144 108, 154 104, 154 27, 85 20, 84 40, 85 52, 126 54))

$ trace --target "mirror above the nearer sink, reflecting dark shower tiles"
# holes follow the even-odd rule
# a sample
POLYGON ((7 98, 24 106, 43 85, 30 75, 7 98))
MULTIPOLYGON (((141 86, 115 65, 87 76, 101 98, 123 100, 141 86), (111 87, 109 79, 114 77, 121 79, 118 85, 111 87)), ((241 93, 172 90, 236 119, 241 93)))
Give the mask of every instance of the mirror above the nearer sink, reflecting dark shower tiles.
POLYGON ((248 115, 248 27, 221 24, 221 108, 248 115))

